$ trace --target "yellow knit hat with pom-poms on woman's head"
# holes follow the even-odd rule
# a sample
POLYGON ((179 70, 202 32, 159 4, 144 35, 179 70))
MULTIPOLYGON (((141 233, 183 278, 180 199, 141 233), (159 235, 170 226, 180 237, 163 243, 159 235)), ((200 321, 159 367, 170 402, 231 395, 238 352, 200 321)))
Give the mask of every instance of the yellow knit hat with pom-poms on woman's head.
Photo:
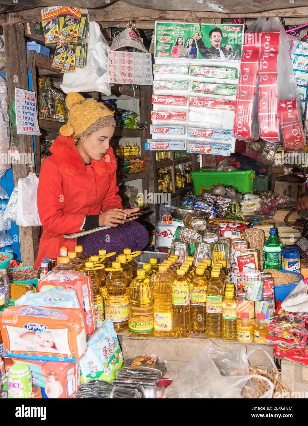
POLYGON ((113 112, 102 102, 85 99, 80 93, 70 92, 65 100, 69 110, 67 124, 60 128, 63 136, 86 136, 102 127, 116 126, 113 112))

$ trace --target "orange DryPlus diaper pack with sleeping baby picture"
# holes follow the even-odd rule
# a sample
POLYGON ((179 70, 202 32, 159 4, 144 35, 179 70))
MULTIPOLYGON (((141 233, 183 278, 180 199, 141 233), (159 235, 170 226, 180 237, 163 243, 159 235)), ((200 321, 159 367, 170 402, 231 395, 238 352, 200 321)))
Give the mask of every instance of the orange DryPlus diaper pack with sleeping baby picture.
POLYGON ((8 357, 76 363, 87 350, 81 309, 9 306, 0 330, 8 357))

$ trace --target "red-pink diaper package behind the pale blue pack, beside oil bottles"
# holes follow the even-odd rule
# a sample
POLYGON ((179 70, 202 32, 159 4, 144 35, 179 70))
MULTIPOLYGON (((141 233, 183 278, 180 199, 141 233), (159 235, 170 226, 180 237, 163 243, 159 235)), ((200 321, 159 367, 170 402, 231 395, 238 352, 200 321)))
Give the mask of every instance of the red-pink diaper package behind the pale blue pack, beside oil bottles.
POLYGON ((36 291, 42 293, 53 287, 76 291, 79 305, 83 311, 86 333, 92 334, 95 330, 95 318, 90 277, 77 271, 50 271, 38 283, 36 291))

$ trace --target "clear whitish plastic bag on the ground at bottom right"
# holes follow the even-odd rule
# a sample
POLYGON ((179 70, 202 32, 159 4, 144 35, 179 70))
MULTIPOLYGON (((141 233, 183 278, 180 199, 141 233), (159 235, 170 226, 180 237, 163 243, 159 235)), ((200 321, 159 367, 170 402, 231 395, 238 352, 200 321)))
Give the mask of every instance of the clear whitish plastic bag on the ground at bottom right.
POLYGON ((247 359, 253 351, 245 354, 245 350, 242 345, 236 351, 231 351, 209 342, 166 388, 165 396, 167 398, 239 399, 242 398, 241 390, 244 385, 256 377, 265 380, 270 386, 262 399, 272 398, 273 383, 266 377, 248 374, 247 359))

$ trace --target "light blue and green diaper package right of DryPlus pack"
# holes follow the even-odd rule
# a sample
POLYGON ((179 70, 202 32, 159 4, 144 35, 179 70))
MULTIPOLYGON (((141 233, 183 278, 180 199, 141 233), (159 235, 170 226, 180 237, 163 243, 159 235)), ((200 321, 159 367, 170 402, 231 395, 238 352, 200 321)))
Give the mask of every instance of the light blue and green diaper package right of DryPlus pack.
POLYGON ((112 382, 116 370, 123 366, 123 355, 112 320, 102 322, 87 342, 87 352, 81 358, 81 383, 99 379, 112 382))

